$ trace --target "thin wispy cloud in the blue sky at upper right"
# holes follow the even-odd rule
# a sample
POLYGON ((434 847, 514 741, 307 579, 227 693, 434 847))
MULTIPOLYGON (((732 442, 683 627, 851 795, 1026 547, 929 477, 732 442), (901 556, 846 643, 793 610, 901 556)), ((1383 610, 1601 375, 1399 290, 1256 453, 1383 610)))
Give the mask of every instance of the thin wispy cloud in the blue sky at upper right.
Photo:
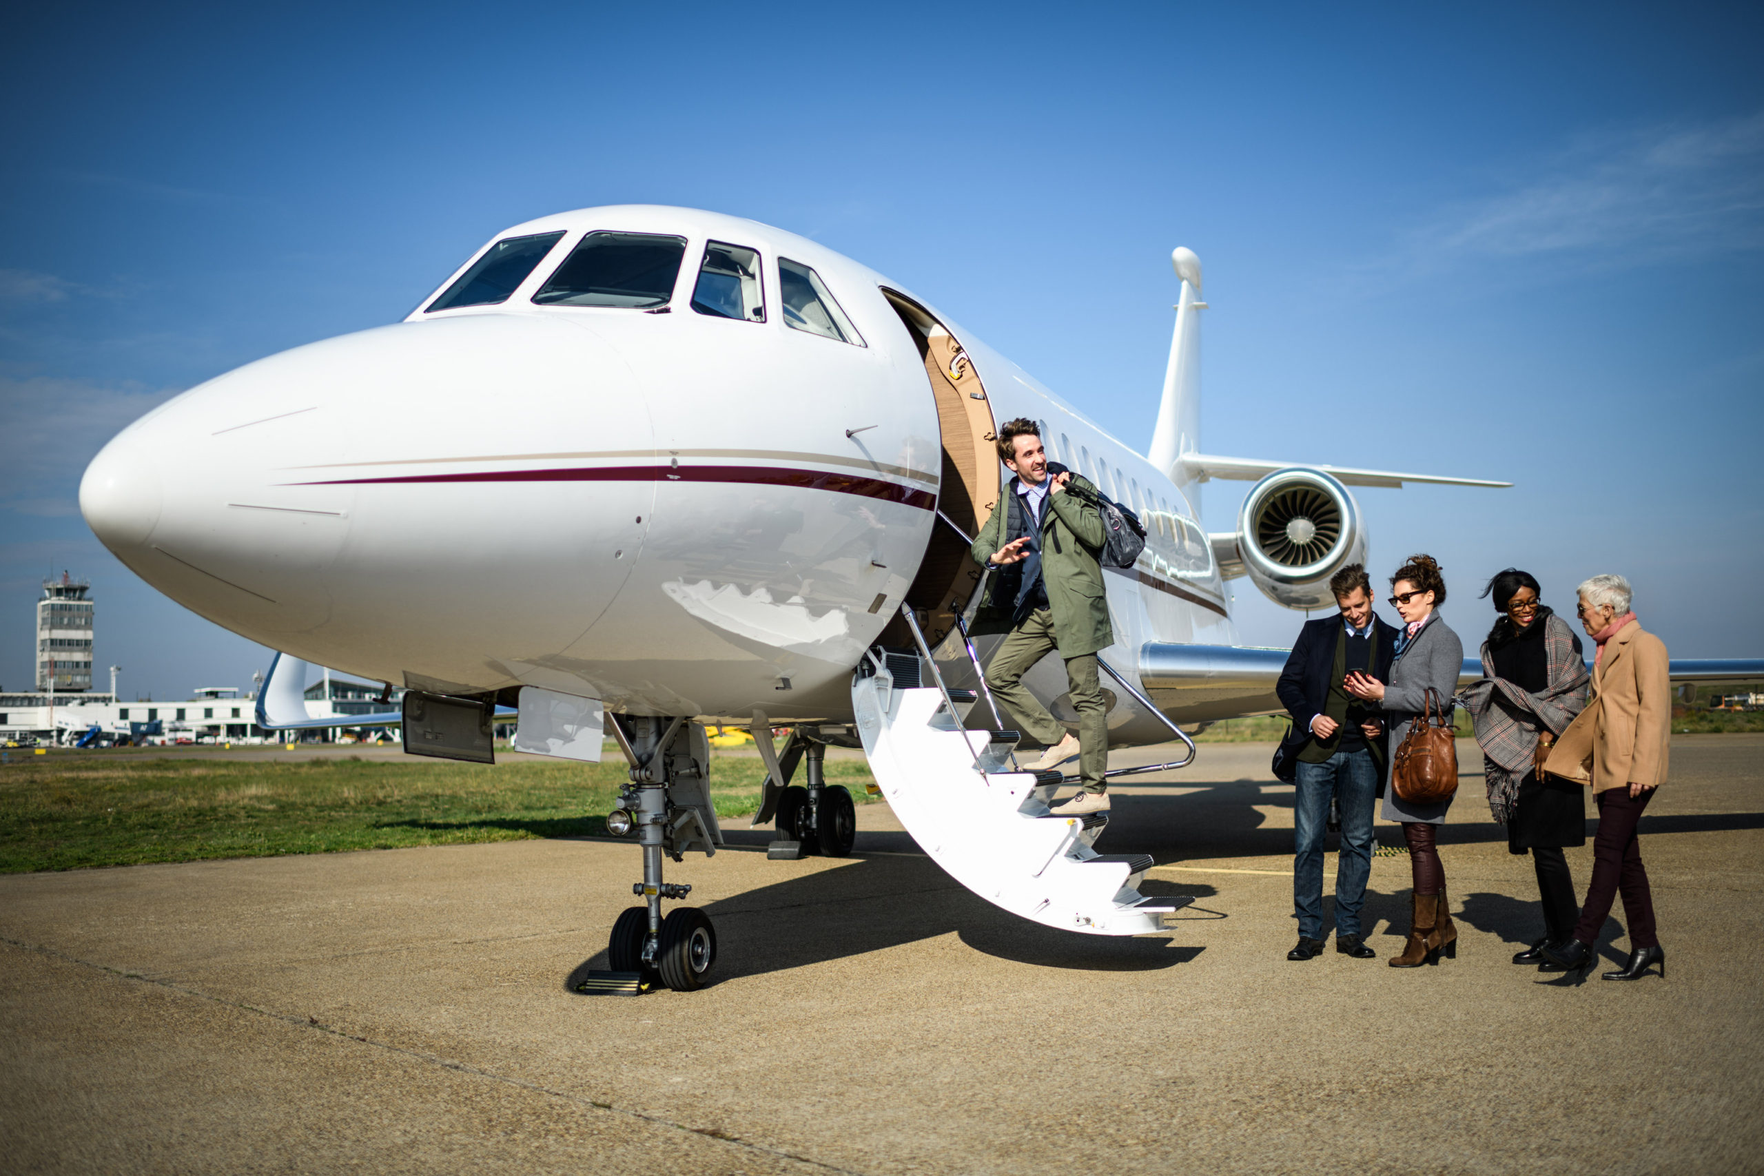
POLYGON ((1445 210, 1406 252, 1625 266, 1718 249, 1764 249, 1764 113, 1589 136, 1508 190, 1445 210))

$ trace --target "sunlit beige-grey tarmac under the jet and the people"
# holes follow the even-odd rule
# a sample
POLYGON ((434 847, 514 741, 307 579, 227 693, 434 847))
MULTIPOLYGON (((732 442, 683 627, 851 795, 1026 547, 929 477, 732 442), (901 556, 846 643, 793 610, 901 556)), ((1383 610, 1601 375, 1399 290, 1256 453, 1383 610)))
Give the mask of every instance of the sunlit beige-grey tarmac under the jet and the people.
MULTIPOLYGON (((727 850, 670 866, 720 934, 699 993, 573 991, 632 903, 619 841, 5 876, 0 1167, 1764 1171, 1764 735, 1674 739, 1642 823, 1667 979, 1635 984, 1510 963, 1542 934, 1531 862, 1459 748, 1462 940, 1418 970, 1385 964, 1408 859, 1383 823, 1379 959, 1286 961, 1291 788, 1267 744, 1115 790, 1099 848, 1196 896, 1161 936, 998 912, 884 804, 843 860, 767 860, 769 830, 730 822, 727 850)), ((1584 892, 1591 843, 1568 857, 1584 892)))

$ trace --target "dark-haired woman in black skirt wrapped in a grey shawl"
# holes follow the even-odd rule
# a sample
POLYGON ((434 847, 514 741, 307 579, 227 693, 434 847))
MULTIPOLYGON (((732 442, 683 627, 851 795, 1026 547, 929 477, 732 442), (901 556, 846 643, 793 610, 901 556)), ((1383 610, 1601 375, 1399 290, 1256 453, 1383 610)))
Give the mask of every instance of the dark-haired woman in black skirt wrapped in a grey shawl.
POLYGON ((1489 580, 1482 594, 1494 598, 1501 615, 1482 644, 1484 679, 1464 691, 1464 707, 1476 723, 1489 809, 1506 825, 1506 852, 1531 853, 1544 901, 1544 938, 1514 963, 1556 971, 1542 949, 1565 945, 1581 917, 1563 850, 1586 845, 1586 790, 1544 772, 1542 763, 1586 709, 1591 675, 1581 638, 1538 599, 1542 591, 1517 568, 1489 580))

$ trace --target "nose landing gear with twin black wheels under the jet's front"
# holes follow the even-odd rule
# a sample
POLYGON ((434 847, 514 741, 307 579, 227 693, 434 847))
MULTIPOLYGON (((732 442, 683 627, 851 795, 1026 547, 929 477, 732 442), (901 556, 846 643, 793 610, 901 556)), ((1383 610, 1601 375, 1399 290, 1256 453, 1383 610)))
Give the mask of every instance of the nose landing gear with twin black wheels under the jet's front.
POLYGON ((723 841, 711 806, 711 744, 702 725, 683 718, 609 714, 607 725, 632 763, 619 802, 644 850, 644 880, 632 885, 632 894, 646 901, 612 924, 609 968, 589 971, 579 991, 635 996, 665 984, 690 993, 704 987, 716 966, 716 927, 697 906, 676 908, 663 919, 662 899, 683 899, 691 887, 662 880, 662 855, 676 862, 690 850, 713 855, 723 841))

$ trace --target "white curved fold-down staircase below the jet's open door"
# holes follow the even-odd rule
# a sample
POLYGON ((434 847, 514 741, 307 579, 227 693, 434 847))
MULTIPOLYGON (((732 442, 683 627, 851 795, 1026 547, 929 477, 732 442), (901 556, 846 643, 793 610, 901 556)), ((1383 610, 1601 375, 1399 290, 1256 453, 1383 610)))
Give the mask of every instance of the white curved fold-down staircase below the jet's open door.
POLYGON ((852 681, 870 770, 907 832, 956 882, 1023 919, 1083 934, 1164 929, 1192 899, 1140 894, 1148 853, 1097 853, 1108 813, 1055 816, 1060 772, 1018 770, 1016 732, 967 730, 956 707, 972 696, 944 686, 912 629, 923 658, 870 651, 852 681), (935 684, 919 684, 921 666, 935 684))

